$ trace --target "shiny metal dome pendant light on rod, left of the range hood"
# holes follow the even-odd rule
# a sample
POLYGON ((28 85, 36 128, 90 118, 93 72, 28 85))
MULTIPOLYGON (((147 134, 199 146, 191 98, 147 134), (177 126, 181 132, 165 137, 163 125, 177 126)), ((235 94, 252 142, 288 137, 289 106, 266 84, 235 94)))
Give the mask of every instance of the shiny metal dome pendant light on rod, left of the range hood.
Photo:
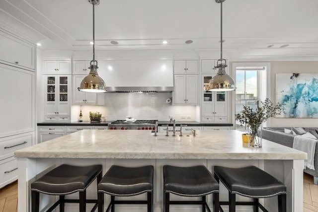
POLYGON ((90 69, 87 76, 80 82, 80 91, 85 92, 106 92, 106 84, 104 80, 98 76, 97 61, 95 60, 95 5, 99 4, 99 0, 88 0, 93 5, 93 60, 90 61, 90 69))

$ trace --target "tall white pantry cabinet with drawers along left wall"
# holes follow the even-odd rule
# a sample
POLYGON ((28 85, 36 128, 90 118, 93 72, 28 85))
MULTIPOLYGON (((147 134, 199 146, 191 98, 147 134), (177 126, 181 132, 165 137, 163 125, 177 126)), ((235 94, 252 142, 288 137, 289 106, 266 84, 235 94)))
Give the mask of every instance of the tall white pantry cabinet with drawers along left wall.
POLYGON ((14 151, 35 142, 35 45, 0 28, 0 188, 17 179, 14 151))

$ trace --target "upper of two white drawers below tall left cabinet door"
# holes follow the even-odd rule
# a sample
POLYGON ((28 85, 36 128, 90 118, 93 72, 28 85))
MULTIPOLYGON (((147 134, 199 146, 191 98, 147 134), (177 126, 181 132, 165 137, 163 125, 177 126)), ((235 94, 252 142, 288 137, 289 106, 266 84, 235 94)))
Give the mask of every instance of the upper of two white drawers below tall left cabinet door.
POLYGON ((33 132, 0 139, 0 160, 13 156, 20 148, 31 146, 33 140, 33 132))

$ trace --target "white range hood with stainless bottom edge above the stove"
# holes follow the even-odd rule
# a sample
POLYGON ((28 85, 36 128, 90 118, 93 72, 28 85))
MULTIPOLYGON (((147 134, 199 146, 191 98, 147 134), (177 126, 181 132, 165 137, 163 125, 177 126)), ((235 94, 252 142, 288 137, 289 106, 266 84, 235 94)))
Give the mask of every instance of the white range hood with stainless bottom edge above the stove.
POLYGON ((171 92, 172 60, 99 60, 107 92, 171 92))

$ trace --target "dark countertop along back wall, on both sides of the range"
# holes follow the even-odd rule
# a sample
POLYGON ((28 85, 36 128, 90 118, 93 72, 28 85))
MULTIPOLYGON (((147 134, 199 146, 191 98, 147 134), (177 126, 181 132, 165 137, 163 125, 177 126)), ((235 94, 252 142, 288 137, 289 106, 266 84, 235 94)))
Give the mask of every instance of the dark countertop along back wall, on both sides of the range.
MULTIPOLYGON (((90 123, 89 121, 85 122, 41 122, 38 123, 37 126, 108 126, 113 121, 105 121, 100 123, 90 123)), ((191 126, 204 126, 204 127, 233 127, 232 123, 199 123, 195 121, 176 121, 175 125, 180 126, 187 125, 189 127, 191 126)), ((159 126, 173 126, 172 123, 169 121, 158 121, 159 126)))

